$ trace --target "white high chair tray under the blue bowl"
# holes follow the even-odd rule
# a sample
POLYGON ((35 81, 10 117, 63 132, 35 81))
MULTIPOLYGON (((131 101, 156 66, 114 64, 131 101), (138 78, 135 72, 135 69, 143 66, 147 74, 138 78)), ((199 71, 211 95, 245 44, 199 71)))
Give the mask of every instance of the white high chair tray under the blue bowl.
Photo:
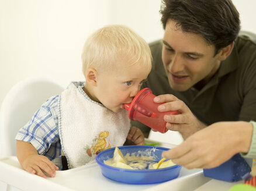
MULTIPOLYGON (((150 142, 150 140, 147 140, 150 142)), ((158 144, 174 147, 171 144, 158 144)), ((0 190, 195 190, 210 178, 202 169, 181 169, 178 178, 164 183, 132 185, 112 181, 101 174, 98 164, 85 165, 67 171, 57 171, 55 178, 41 178, 24 171, 16 157, 0 159, 0 190)))

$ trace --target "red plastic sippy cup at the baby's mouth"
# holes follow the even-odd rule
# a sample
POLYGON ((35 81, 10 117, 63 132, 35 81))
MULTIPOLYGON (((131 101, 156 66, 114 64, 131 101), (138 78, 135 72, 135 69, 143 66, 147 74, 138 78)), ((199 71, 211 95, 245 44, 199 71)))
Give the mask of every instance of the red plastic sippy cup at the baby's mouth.
POLYGON ((158 132, 167 132, 164 115, 177 115, 178 111, 160 112, 158 105, 153 101, 155 95, 149 88, 144 88, 137 93, 130 104, 123 104, 128 111, 129 119, 137 120, 158 132))

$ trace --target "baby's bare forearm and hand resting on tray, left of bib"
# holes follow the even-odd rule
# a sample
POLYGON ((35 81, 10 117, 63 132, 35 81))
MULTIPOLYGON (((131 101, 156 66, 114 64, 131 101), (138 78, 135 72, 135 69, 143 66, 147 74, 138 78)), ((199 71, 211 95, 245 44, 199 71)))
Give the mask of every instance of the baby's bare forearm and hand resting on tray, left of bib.
POLYGON ((46 178, 46 175, 54 177, 58 167, 44 155, 39 155, 31 143, 16 141, 17 158, 22 168, 31 174, 46 178))

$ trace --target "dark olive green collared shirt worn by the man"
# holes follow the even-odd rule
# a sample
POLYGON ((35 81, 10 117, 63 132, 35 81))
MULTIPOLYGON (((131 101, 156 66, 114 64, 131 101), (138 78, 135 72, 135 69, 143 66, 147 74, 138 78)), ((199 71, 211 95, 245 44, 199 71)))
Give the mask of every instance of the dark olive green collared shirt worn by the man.
MULTIPOLYGON (((210 125, 219 121, 256 121, 256 35, 240 33, 233 51, 200 91, 191 87, 178 92, 171 89, 162 63, 162 41, 150 44, 153 68, 143 85, 153 94, 173 94, 184 101, 196 117, 210 125)), ((143 132, 150 130, 132 122, 143 132)))

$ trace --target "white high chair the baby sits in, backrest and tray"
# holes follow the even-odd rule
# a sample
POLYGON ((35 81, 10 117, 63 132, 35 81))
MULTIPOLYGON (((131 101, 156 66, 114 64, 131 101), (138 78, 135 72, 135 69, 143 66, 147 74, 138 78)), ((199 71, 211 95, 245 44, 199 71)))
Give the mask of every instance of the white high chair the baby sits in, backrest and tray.
POLYGON ((168 190, 172 188, 190 191, 210 180, 203 176, 203 171, 200 169, 185 168, 181 170, 180 179, 159 185, 124 185, 109 181, 101 174, 97 164, 84 165, 68 171, 57 171, 55 178, 47 179, 24 171, 17 157, 13 156, 16 145, 15 135, 47 98, 63 90, 63 87, 51 80, 29 79, 16 84, 6 95, 0 110, 1 191, 71 191, 84 190, 85 185, 89 190, 95 190, 98 188, 96 185, 100 185, 101 190, 168 190))

